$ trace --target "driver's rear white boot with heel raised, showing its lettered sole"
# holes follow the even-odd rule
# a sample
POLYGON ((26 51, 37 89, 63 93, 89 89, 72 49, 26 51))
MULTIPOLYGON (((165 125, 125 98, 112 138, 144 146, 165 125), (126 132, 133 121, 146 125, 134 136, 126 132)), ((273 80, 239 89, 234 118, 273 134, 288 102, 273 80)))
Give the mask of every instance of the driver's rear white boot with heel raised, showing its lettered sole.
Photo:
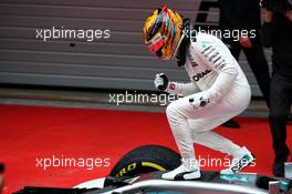
POLYGON ((247 147, 241 147, 233 154, 232 163, 228 169, 221 170, 220 174, 231 175, 247 167, 254 156, 247 147))

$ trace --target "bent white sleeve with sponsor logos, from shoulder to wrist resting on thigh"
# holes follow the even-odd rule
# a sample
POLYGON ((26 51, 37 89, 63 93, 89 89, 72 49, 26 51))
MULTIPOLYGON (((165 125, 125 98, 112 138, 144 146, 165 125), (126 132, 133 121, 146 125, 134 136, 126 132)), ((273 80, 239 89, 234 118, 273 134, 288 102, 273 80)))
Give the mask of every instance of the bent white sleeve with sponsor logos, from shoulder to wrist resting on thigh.
POLYGON ((209 43, 206 48, 198 47, 196 51, 201 60, 218 73, 208 92, 213 101, 221 99, 231 89, 238 75, 237 61, 221 41, 209 43))

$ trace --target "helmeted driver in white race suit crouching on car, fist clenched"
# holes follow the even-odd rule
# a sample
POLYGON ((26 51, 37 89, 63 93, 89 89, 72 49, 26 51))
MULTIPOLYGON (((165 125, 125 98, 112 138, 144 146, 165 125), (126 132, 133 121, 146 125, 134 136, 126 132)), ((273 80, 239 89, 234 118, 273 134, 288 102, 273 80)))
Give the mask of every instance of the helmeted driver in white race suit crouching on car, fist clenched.
POLYGON ((181 155, 181 165, 163 174, 165 180, 200 177, 194 143, 232 155, 231 165, 221 174, 233 174, 254 159, 243 146, 211 130, 240 114, 250 102, 251 91, 246 75, 228 48, 218 38, 194 35, 189 19, 163 6, 144 24, 145 44, 158 58, 176 58, 185 67, 189 83, 168 81, 156 74, 155 86, 184 98, 166 109, 167 119, 181 155))

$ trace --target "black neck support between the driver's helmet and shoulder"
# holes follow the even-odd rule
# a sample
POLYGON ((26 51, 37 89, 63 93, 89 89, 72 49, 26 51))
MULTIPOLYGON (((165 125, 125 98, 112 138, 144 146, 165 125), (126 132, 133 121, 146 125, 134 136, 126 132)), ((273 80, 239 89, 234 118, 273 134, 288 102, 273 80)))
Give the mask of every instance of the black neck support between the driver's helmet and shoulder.
POLYGON ((182 35, 180 41, 177 44, 177 49, 175 51, 176 59, 177 59, 177 65, 182 67, 186 63, 186 53, 187 53, 187 48, 190 43, 190 33, 191 33, 191 25, 190 25, 190 19, 186 18, 184 19, 184 24, 182 24, 182 35))

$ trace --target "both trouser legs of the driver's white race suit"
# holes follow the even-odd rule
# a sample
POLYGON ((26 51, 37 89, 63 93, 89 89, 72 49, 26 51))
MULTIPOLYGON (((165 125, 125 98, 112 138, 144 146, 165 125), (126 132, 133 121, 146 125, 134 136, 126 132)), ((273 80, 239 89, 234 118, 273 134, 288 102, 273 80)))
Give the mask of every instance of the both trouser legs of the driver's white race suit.
POLYGON ((230 118, 240 114, 249 104, 249 88, 233 86, 230 91, 219 102, 199 109, 194 109, 189 103, 189 98, 199 98, 199 93, 185 96, 168 105, 167 119, 182 162, 195 159, 194 142, 228 154, 239 149, 231 141, 210 132, 230 118))

